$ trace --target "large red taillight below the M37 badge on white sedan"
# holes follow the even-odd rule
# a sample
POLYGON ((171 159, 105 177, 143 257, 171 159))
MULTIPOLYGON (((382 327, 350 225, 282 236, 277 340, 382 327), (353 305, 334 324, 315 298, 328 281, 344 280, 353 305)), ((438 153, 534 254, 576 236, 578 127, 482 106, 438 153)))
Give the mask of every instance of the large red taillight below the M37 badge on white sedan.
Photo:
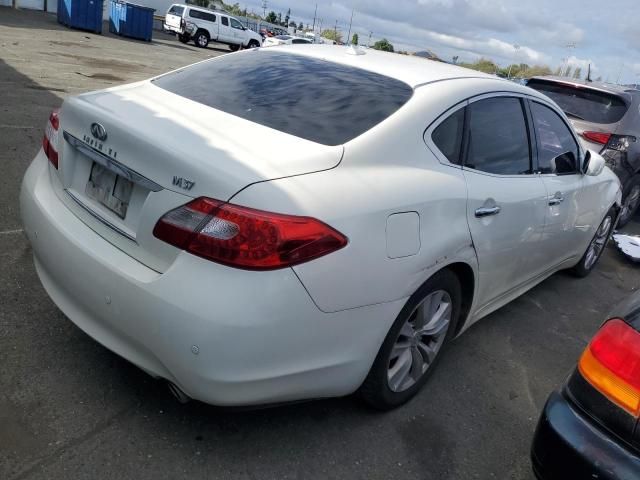
POLYGON ((201 197, 164 215, 153 235, 194 255, 247 270, 274 270, 341 249, 347 238, 310 217, 201 197))

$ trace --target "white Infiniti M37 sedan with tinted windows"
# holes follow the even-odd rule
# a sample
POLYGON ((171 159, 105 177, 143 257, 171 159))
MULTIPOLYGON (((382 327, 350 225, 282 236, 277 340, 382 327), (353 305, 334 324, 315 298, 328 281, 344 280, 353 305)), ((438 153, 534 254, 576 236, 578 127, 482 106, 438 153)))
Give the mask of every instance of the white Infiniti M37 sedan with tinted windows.
POLYGON ((546 96, 328 45, 68 97, 43 145, 20 204, 48 294, 217 405, 400 405, 451 338, 588 274, 620 209, 546 96))

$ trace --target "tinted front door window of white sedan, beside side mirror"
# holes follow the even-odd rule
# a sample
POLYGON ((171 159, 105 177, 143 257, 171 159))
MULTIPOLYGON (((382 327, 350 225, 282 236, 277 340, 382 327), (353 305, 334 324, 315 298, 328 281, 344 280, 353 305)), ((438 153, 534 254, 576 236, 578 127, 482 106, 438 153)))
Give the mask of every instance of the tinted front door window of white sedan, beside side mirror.
POLYGON ((536 128, 540 171, 576 173, 578 144, 567 124, 549 107, 537 102, 531 102, 531 114, 536 128))

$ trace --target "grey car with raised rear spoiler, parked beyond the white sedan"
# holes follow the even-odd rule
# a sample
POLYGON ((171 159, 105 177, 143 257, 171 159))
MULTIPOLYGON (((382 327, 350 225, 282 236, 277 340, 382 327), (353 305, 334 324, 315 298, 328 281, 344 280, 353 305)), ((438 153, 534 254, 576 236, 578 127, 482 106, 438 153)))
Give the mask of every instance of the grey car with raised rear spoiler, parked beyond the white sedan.
POLYGON ((626 225, 640 206, 640 91, 607 83, 534 77, 528 85, 567 114, 586 148, 599 152, 622 182, 626 225))

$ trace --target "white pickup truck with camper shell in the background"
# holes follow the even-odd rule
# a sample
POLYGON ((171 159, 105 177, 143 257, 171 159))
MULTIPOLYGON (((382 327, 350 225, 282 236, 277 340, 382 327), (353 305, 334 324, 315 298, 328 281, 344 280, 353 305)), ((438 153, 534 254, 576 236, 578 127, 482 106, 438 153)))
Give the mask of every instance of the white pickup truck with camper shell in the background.
POLYGON ((209 45, 210 41, 224 43, 231 50, 255 48, 262 44, 262 37, 238 19, 193 5, 171 5, 165 16, 164 29, 175 33, 182 43, 193 40, 201 48, 209 45))

